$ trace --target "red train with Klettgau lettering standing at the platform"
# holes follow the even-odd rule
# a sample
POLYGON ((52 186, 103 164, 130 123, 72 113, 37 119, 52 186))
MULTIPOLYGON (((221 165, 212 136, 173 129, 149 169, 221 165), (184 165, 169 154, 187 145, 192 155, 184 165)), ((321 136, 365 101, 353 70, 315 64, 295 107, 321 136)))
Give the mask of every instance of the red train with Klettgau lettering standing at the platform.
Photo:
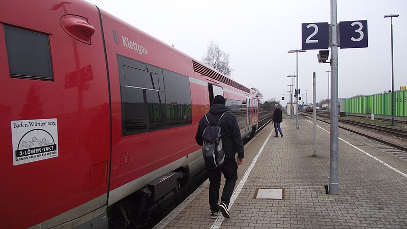
POLYGON ((203 171, 199 119, 244 87, 88 2, 0 2, 0 228, 122 228, 203 171))

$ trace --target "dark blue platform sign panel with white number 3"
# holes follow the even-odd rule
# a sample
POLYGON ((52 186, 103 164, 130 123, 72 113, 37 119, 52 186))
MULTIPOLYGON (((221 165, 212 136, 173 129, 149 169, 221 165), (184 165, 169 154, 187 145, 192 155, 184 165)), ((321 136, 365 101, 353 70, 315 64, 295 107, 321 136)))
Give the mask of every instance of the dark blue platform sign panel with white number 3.
POLYGON ((339 22, 340 48, 367 48, 367 20, 339 22))

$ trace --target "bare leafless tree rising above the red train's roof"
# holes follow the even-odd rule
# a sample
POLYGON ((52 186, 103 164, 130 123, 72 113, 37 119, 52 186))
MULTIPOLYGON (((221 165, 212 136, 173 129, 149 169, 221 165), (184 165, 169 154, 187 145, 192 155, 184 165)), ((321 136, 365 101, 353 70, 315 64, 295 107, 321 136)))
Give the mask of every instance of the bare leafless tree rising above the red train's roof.
POLYGON ((219 44, 213 40, 208 44, 207 53, 202 56, 202 62, 227 76, 233 72, 233 69, 229 67, 229 54, 220 50, 219 44))

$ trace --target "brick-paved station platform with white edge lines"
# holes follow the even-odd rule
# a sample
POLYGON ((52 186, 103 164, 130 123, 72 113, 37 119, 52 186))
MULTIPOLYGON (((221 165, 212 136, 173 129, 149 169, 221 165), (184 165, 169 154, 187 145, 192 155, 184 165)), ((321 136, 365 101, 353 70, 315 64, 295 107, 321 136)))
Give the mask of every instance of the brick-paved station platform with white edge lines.
POLYGON ((326 194, 330 127, 316 124, 316 157, 312 119, 303 117, 300 129, 285 116, 284 137, 270 124, 245 146, 230 219, 211 219, 207 180, 155 228, 407 228, 407 162, 339 129, 339 194, 326 194), (283 196, 256 198, 258 189, 283 196))

